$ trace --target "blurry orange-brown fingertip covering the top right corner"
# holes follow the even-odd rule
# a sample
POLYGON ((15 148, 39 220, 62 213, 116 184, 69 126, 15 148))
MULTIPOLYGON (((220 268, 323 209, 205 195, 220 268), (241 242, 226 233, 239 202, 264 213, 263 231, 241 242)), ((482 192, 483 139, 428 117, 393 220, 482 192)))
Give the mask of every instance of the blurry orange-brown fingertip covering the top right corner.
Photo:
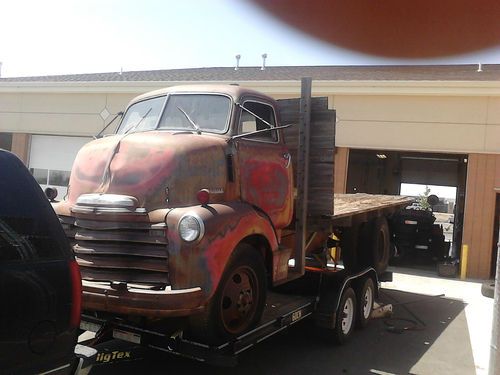
POLYGON ((432 58, 500 45, 497 0, 253 0, 293 27, 339 47, 432 58))

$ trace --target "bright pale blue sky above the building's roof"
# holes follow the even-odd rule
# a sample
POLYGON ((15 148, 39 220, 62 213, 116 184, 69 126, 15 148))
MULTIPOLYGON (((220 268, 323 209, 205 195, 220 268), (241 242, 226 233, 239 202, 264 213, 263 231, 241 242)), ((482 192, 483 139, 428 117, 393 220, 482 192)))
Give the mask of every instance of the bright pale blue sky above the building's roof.
POLYGON ((2 77, 233 66, 493 63, 500 48, 447 59, 388 60, 288 27, 245 0, 0 2, 2 77))

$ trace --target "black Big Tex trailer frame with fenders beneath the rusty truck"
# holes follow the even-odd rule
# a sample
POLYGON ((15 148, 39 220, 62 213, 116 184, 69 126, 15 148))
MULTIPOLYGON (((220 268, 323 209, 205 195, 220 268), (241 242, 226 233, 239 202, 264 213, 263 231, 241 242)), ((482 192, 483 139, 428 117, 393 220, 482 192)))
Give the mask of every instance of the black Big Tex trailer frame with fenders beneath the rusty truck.
POLYGON ((370 278, 370 275, 374 278, 375 285, 380 281, 373 269, 348 275, 342 268, 335 267, 319 273, 309 273, 313 275, 313 279, 305 284, 294 285, 288 291, 268 291, 260 323, 253 330, 218 345, 192 341, 183 335, 182 330, 164 331, 141 326, 121 317, 101 318, 82 314, 80 328, 96 333, 94 339, 83 342, 97 350, 87 362, 95 366, 137 360, 146 357, 152 350, 216 366, 235 366, 239 354, 307 317, 317 316, 323 319, 323 324, 326 322, 330 326, 336 314, 344 312, 340 300, 346 289, 370 278), (331 299, 331 294, 322 285, 334 292, 335 298, 331 299), (318 310, 322 299, 328 302, 323 302, 318 310))

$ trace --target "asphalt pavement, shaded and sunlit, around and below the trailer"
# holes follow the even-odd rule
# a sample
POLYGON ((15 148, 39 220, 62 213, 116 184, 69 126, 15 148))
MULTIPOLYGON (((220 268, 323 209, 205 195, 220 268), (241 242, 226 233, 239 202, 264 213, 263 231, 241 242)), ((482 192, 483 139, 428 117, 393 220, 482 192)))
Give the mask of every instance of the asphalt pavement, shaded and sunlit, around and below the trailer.
POLYGON ((151 352, 91 374, 486 375, 493 300, 481 284, 395 271, 378 299, 393 304, 393 316, 372 320, 343 346, 322 341, 306 319, 241 354, 233 368, 151 352))

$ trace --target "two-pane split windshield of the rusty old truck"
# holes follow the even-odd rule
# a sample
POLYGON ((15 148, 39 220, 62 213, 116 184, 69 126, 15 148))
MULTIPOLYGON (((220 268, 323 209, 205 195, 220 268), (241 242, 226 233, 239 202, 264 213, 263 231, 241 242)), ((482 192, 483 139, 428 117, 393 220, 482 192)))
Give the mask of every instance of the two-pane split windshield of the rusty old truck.
POLYGON ((228 97, 214 94, 171 94, 147 99, 129 107, 117 134, 154 129, 193 131, 196 127, 200 131, 224 133, 230 108, 228 97))

